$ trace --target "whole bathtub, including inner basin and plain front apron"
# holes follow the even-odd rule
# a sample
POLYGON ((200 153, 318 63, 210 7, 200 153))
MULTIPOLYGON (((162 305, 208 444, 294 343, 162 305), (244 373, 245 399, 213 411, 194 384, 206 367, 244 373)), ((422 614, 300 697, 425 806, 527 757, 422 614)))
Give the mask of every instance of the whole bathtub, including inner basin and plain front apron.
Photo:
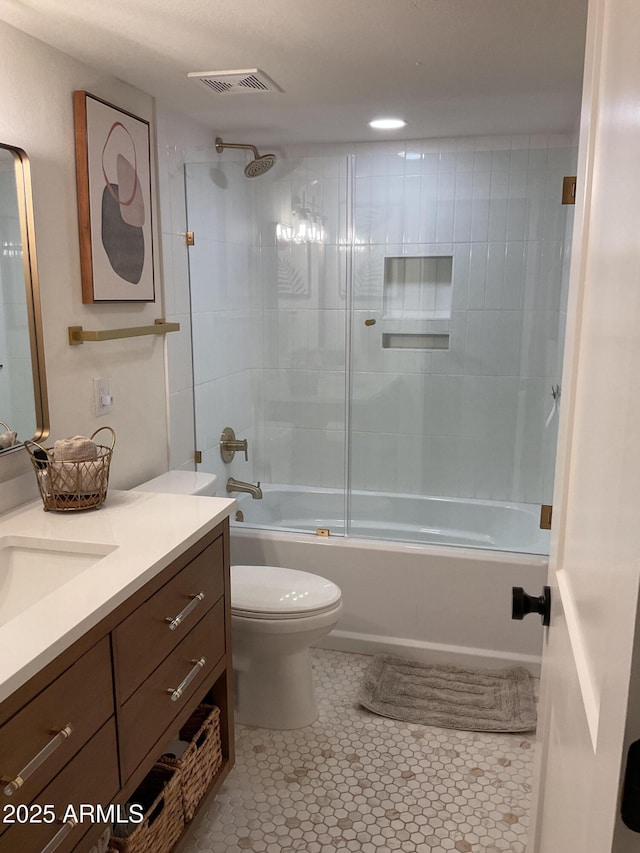
POLYGON ((262 489, 261 501, 238 496, 232 562, 338 584, 343 615, 325 648, 539 671, 540 621, 511 619, 512 586, 534 592, 546 582, 549 534, 532 505, 354 491, 351 516, 366 521, 344 536, 342 492, 262 489), (329 535, 303 532, 316 528, 329 535))

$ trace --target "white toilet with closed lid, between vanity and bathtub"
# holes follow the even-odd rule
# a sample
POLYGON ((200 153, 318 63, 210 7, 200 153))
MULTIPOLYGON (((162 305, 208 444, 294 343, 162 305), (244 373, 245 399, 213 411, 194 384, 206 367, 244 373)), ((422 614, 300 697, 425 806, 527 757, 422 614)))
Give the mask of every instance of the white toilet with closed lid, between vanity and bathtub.
MULTIPOLYGON (((137 491, 215 495, 216 476, 168 471, 137 491)), ((280 566, 231 566, 231 630, 236 720, 298 729, 318 718, 310 646, 342 612, 332 581, 280 566)))

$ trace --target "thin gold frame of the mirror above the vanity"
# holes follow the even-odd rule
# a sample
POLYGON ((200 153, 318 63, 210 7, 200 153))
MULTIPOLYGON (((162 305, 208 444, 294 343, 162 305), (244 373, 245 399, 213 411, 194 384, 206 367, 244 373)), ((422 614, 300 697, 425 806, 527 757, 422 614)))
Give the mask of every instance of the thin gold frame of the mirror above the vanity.
MULTIPOLYGON (((36 417, 34 441, 43 441, 49 435, 49 403, 47 399, 47 376, 44 363, 44 336, 40 308, 40 285, 36 260, 35 224, 31 193, 31 168, 26 151, 15 145, 0 143, 0 148, 13 155, 16 178, 16 201, 20 218, 20 239, 26 290, 31 370, 33 374, 33 396, 36 417)), ((20 442, 17 447, 21 447, 20 442)), ((13 450, 14 448, 8 448, 13 450)), ((6 452, 6 451, 4 451, 6 452)))

